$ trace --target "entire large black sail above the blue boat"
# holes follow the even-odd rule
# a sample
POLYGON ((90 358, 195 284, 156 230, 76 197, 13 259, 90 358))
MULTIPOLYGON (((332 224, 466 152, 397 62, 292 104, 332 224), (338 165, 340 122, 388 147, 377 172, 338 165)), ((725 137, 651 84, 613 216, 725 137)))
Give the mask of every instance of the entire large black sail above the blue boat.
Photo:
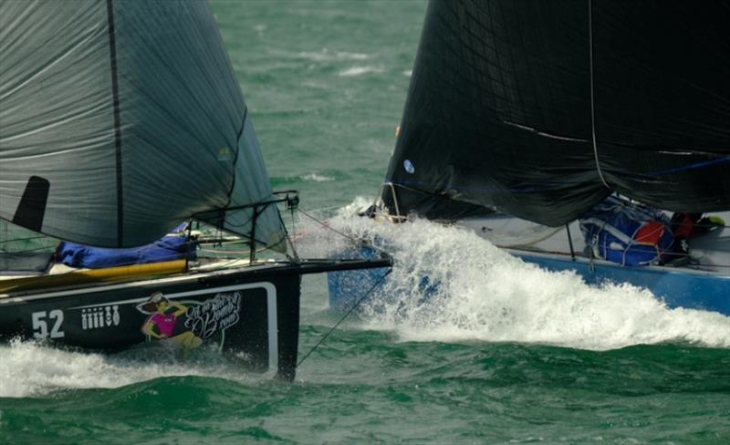
POLYGON ((613 191, 730 209, 728 23, 721 1, 433 0, 386 178, 400 212, 557 226, 613 191))

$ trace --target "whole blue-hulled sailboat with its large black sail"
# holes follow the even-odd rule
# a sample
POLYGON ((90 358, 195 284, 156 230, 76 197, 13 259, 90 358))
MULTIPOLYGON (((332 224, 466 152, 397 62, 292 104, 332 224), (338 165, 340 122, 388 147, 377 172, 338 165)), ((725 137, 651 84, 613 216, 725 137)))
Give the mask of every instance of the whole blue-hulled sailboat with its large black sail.
MULTIPOLYGON (((728 20, 720 2, 432 0, 362 213, 730 316, 728 20)), ((330 274, 330 304, 377 276, 330 274)))

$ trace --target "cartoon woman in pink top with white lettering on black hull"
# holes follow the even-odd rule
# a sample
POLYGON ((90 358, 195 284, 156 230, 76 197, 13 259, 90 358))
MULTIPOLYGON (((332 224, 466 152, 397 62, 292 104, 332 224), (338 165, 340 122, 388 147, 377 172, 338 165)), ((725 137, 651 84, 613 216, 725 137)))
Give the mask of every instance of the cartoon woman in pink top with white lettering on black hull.
POLYGON ((149 339, 164 340, 184 351, 200 347, 203 340, 217 340, 223 346, 224 331, 240 319, 241 294, 218 293, 213 298, 179 302, 155 292, 137 305, 143 314, 149 314, 142 334, 149 339))

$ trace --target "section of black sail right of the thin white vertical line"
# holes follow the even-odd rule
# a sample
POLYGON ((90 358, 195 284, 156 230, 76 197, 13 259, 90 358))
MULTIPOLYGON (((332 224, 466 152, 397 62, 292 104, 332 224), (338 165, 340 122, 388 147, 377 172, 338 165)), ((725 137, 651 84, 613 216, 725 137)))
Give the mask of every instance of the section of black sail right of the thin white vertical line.
POLYGON ((594 2, 601 169, 684 212, 730 208, 730 3, 594 2))

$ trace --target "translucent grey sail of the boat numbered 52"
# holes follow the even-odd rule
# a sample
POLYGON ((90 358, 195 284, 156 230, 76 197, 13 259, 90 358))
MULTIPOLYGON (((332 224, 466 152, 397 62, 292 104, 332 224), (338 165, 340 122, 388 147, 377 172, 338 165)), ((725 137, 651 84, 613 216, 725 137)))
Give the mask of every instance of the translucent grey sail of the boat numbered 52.
MULTIPOLYGON (((0 0, 0 218, 104 247, 272 199, 206 2, 0 0)), ((252 231, 252 211, 225 224, 252 231)), ((280 239, 270 206, 261 243, 280 239)))

